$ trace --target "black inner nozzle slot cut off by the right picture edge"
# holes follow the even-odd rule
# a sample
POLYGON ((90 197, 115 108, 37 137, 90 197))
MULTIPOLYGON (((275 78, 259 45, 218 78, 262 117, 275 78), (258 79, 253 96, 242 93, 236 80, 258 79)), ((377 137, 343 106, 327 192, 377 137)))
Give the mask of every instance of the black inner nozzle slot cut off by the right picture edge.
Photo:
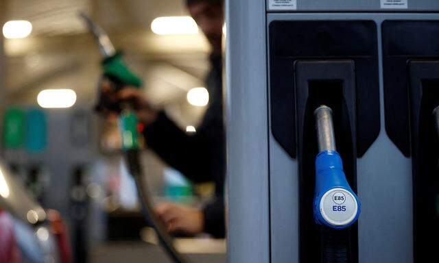
POLYGON ((412 61, 408 70, 414 258, 428 262, 437 248, 426 237, 439 235, 439 61, 412 61))

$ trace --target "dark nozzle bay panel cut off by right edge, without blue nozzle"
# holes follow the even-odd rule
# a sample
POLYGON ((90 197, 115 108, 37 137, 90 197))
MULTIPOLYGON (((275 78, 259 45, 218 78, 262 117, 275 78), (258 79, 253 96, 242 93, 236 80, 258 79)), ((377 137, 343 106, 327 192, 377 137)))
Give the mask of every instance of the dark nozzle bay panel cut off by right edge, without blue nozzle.
POLYGON ((383 23, 386 130, 412 158, 414 262, 437 258, 439 21, 383 23))

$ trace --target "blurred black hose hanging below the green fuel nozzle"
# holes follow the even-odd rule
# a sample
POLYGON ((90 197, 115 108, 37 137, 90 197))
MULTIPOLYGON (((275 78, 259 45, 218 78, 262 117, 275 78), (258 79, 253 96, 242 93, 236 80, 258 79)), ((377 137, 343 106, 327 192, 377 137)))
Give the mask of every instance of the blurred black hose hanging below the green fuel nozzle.
POLYGON ((137 186, 137 192, 141 199, 142 211, 147 218, 147 221, 152 225, 157 233, 158 239, 161 245, 175 263, 188 263, 188 260, 180 254, 173 245, 172 238, 169 236, 165 226, 160 219, 157 218, 154 213, 154 205, 150 198, 150 191, 147 187, 147 181, 143 176, 142 164, 140 161, 139 149, 129 149, 124 151, 124 158, 126 160, 126 166, 128 171, 134 177, 135 184, 137 186))

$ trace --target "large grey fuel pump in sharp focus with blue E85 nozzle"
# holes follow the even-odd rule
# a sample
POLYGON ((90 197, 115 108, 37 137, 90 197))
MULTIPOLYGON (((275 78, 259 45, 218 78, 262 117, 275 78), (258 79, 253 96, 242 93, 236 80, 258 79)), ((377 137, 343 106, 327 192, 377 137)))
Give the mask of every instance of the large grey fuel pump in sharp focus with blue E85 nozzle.
POLYGON ((437 261, 439 1, 226 9, 230 262, 437 261))

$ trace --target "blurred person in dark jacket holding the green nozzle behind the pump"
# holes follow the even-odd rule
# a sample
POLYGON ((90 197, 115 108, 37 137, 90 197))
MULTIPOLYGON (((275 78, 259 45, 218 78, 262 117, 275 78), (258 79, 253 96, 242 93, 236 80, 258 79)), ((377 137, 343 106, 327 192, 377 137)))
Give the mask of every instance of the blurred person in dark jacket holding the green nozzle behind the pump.
MULTIPOLYGON (((188 135, 171 121, 163 111, 150 107, 139 90, 126 87, 117 94, 120 101, 134 100, 137 116, 145 124, 143 135, 150 149, 167 164, 195 182, 215 182, 215 199, 202 210, 175 203, 158 203, 156 214, 168 231, 188 235, 202 232, 216 238, 225 236, 224 178, 225 136, 222 112, 222 27, 224 0, 187 0, 187 8, 212 47, 211 71, 206 77, 209 108, 197 132, 188 135)), ((111 90, 109 82, 102 90, 111 90)))

